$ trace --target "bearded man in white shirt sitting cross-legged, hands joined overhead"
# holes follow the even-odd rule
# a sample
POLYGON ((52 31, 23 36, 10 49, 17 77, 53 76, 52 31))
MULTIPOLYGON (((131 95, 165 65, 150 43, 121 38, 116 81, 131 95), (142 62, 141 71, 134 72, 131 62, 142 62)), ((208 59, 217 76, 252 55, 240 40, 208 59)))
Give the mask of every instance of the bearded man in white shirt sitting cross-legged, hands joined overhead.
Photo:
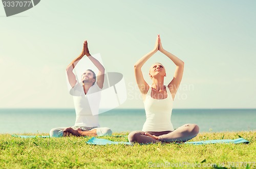
POLYGON ((50 131, 51 137, 61 136, 102 136, 111 135, 110 128, 99 127, 98 110, 100 102, 100 90, 103 88, 105 69, 98 60, 93 58, 88 49, 87 41, 83 43, 82 52, 74 59, 66 69, 69 83, 72 87, 71 94, 74 98, 76 110, 76 122, 73 127, 53 128, 50 131), (73 69, 84 55, 92 61, 99 70, 97 79, 95 73, 88 69, 81 76, 78 82, 73 69), (93 103, 93 104, 92 104, 93 103), (95 115, 95 111, 97 111, 95 115), (93 114, 94 112, 94 114, 93 114))

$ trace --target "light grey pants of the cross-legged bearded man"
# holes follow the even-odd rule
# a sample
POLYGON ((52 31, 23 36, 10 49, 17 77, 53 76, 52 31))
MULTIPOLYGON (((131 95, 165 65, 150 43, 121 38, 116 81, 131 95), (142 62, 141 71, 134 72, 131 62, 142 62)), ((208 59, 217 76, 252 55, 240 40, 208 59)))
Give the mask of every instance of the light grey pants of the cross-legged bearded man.
MULTIPOLYGON (((68 128, 68 127, 58 127, 58 128, 53 128, 50 131, 50 137, 62 137, 63 136, 63 131, 68 128)), ((97 135, 102 136, 102 135, 111 135, 112 131, 110 128, 107 127, 83 127, 83 126, 73 126, 71 127, 73 129, 80 128, 82 131, 91 131, 93 129, 96 129, 97 135)))

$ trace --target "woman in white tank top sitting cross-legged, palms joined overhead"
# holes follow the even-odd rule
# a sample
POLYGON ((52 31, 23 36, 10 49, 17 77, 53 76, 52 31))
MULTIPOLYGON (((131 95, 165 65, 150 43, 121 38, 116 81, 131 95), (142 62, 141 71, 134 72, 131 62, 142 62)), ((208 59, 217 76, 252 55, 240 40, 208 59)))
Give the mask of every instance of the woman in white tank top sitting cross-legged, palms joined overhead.
POLYGON ((180 143, 197 136, 199 127, 196 124, 185 124, 174 130, 170 121, 173 100, 183 75, 184 62, 163 49, 160 35, 157 36, 154 49, 144 55, 144 57, 135 64, 134 69, 137 85, 142 94, 145 106, 146 122, 143 125, 142 131, 133 131, 129 134, 128 138, 130 143, 180 143), (152 86, 146 83, 141 71, 141 67, 144 63, 158 50, 165 54, 176 65, 174 78, 170 81, 168 86, 164 85, 166 73, 162 64, 155 63, 150 68, 149 75, 152 79, 152 86))

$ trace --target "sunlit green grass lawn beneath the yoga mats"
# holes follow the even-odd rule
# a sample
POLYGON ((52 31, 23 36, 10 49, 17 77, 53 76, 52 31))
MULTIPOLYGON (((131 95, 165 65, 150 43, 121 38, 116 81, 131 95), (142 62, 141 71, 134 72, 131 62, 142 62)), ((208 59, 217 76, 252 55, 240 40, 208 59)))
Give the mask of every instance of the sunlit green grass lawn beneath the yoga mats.
MULTIPOLYGON (((239 136, 250 144, 93 146, 86 144, 91 137, 19 138, 0 134, 0 168, 256 168, 256 131, 200 133, 193 141, 239 136)), ((127 137, 100 138, 127 141, 127 137)))

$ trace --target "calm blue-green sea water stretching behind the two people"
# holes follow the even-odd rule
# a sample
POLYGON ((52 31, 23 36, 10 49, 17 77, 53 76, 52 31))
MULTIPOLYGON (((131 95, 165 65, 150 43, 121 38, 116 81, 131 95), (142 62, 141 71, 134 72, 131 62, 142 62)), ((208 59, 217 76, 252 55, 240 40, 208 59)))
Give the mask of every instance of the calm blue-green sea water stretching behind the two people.
MULTIPOLYGON (((144 109, 113 109, 99 115, 101 127, 114 132, 141 130, 144 109)), ((0 109, 0 133, 48 133, 75 123, 74 109, 0 109)), ((195 123, 200 132, 256 130, 256 109, 174 109, 174 128, 195 123)))

